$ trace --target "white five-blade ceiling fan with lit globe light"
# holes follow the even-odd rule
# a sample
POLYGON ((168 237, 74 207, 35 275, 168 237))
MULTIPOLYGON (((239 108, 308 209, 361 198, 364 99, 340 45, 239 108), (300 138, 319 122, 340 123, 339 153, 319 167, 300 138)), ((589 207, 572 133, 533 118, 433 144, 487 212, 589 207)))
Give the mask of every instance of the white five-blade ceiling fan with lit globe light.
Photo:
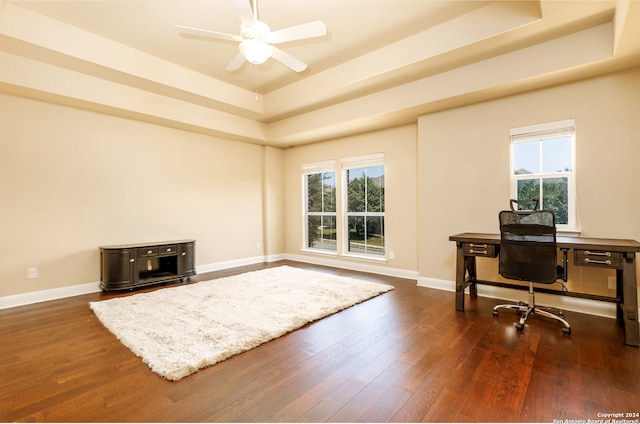
POLYGON ((285 53, 283 50, 274 46, 274 44, 324 36, 327 34, 325 24, 322 21, 314 21, 272 32, 267 24, 258 20, 256 1, 257 0, 253 0, 252 10, 251 4, 249 3, 250 0, 233 0, 236 11, 240 16, 240 35, 209 31, 183 25, 174 25, 174 27, 181 34, 239 42, 240 52, 227 65, 226 69, 229 71, 235 71, 240 68, 245 60, 254 64, 261 64, 270 57, 273 57, 278 62, 296 72, 304 71, 307 68, 305 63, 285 53))

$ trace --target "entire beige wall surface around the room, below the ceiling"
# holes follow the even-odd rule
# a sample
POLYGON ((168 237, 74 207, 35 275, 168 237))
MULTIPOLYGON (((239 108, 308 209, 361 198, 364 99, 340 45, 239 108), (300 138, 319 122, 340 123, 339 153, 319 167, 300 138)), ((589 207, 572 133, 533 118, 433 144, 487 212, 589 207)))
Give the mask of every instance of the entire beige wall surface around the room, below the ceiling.
MULTIPOLYGON (((385 154, 395 259, 333 263, 453 281, 449 235, 497 232, 508 207, 509 129, 569 118, 582 234, 640 240, 638 110, 636 68, 281 150, 0 95, 0 297, 97 282, 109 244, 194 238, 201 267, 325 258, 302 251, 301 166, 373 153, 385 154)), ((483 278, 496 270, 479 261, 483 278)), ((570 286, 611 294, 609 275, 576 267, 570 286)))

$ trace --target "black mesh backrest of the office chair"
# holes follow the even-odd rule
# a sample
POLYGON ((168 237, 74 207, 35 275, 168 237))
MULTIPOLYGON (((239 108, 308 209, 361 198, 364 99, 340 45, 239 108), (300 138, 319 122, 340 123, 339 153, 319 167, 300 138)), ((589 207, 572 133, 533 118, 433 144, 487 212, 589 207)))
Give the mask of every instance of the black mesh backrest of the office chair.
POLYGON ((551 284, 558 279, 553 212, 502 211, 499 272, 505 278, 551 284))

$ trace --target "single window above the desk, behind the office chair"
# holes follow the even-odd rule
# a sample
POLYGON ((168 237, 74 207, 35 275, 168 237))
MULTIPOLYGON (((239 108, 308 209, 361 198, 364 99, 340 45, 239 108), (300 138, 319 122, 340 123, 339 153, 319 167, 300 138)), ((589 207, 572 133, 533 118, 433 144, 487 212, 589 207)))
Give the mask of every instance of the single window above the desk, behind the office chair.
POLYGON ((561 230, 578 227, 574 152, 573 119, 511 130, 511 197, 539 199, 561 230))

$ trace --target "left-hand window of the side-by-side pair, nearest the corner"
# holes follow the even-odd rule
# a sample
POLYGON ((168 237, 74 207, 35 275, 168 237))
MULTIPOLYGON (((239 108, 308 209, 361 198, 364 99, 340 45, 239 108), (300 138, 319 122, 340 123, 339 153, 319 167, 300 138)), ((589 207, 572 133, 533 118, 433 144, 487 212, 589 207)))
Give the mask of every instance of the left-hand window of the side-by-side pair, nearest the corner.
POLYGON ((336 252, 336 171, 334 162, 303 167, 306 248, 336 252))

